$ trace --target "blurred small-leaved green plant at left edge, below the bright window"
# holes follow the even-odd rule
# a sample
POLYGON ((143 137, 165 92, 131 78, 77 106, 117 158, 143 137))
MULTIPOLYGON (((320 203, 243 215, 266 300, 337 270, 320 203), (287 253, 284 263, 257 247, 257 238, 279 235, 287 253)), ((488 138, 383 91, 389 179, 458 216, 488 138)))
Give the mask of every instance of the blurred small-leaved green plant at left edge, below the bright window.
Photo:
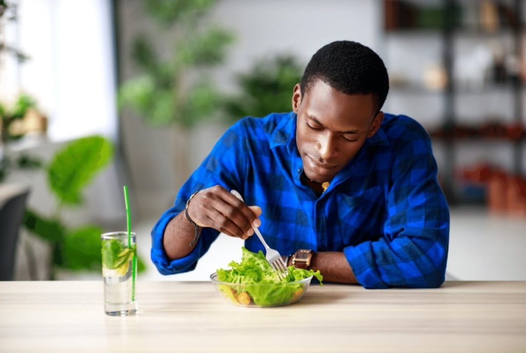
POLYGON ((5 145, 23 135, 13 135, 11 125, 16 120, 21 120, 30 108, 35 108, 36 103, 32 97, 21 94, 18 96, 15 104, 8 108, 5 104, 0 103, 0 183, 5 180, 12 169, 36 169, 42 166, 42 161, 28 154, 22 154, 18 157, 9 156, 5 145))

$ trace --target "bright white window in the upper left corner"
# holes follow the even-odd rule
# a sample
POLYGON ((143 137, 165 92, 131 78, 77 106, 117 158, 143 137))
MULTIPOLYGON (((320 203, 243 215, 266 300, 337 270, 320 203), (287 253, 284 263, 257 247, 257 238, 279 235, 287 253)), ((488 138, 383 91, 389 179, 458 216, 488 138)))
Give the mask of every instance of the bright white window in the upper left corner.
POLYGON ((19 92, 37 100, 48 117, 48 137, 90 134, 115 138, 115 68, 112 10, 105 0, 18 0, 16 21, 3 21, 6 44, 29 59, 3 55, 0 99, 19 92))

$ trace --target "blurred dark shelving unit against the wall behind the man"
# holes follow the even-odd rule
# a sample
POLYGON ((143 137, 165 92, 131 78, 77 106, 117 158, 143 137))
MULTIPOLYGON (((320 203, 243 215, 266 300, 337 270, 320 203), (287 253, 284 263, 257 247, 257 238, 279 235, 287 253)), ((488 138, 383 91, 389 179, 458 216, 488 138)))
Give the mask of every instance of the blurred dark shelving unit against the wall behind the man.
MULTIPOLYGON (((513 0, 507 2, 493 2, 494 4, 506 3, 510 6, 511 11, 513 12, 515 23, 510 22, 509 27, 498 28, 497 31, 485 32, 482 29, 474 28, 462 28, 460 27, 460 8, 466 2, 456 1, 456 0, 442 0, 439 2, 438 6, 442 12, 440 17, 439 25, 434 26, 434 28, 421 28, 418 25, 414 25, 418 20, 413 18, 413 12, 416 12, 414 8, 427 6, 426 2, 411 2, 411 1, 384 1, 384 15, 385 15, 385 40, 389 41, 392 37, 397 38, 412 38, 416 36, 424 37, 438 37, 442 44, 441 49, 441 64, 447 75, 447 82, 443 89, 441 90, 429 90, 424 87, 407 85, 407 86, 394 86, 391 88, 392 94, 402 94, 402 95, 432 95, 440 94, 443 99, 443 114, 440 117, 441 119, 441 128, 447 132, 452 131, 459 124, 459 115, 456 111, 456 100, 459 99, 459 95, 484 95, 492 94, 498 91, 505 91, 507 94, 512 95, 512 104, 513 104, 513 122, 514 124, 523 124, 523 88, 524 83, 520 78, 520 75, 515 79, 510 79, 509 82, 492 84, 491 86, 484 86, 482 89, 469 89, 458 85, 454 77, 454 60, 455 60, 455 41, 459 37, 467 38, 490 38, 498 39, 500 37, 507 37, 508 39, 512 38, 513 54, 519 60, 524 60, 522 53, 522 40, 524 33, 523 27, 523 1, 522 0, 513 0), (401 9, 393 9, 393 4, 400 5, 401 9), (403 5, 403 6, 401 6, 403 5), (390 6, 390 8, 388 8, 390 6), (411 9, 410 7, 414 8, 411 9), (388 14, 389 12, 389 14, 388 14), (393 26, 393 23, 397 23, 397 18, 389 18, 388 16, 400 15, 402 12, 402 19, 396 25, 393 26), (403 13, 405 12, 405 13, 403 13), (394 14, 394 15, 393 15, 394 14)), ((429 4, 428 4, 429 5, 429 4)), ((437 2, 432 3, 433 6, 437 6, 437 2)), ((497 5, 495 5, 497 6, 497 5)), ((436 9, 434 9, 436 11, 436 9)), ((416 16, 416 15, 415 15, 416 16)), ((435 22, 436 24, 436 22, 435 22)), ((417 49, 418 50, 418 49, 417 49)), ((415 53, 418 55, 418 53, 415 53)), ((485 142, 505 142, 511 144, 511 153, 513 155, 513 167, 512 170, 509 170, 510 173, 516 175, 523 175, 523 144, 526 138, 525 134, 522 134, 520 138, 508 139, 502 137, 493 137, 488 138, 485 136, 480 137, 457 137, 454 134, 451 136, 444 136, 444 131, 440 137, 433 137, 437 141, 440 141, 441 148, 443 148, 443 158, 444 163, 439 165, 440 175, 441 175, 441 186, 448 198, 450 204, 465 204, 470 203, 470 200, 463 199, 462 196, 459 196, 458 192, 458 180, 456 178, 456 167, 457 167, 457 156, 459 148, 462 148, 462 144, 466 142, 470 143, 485 143, 485 142)))

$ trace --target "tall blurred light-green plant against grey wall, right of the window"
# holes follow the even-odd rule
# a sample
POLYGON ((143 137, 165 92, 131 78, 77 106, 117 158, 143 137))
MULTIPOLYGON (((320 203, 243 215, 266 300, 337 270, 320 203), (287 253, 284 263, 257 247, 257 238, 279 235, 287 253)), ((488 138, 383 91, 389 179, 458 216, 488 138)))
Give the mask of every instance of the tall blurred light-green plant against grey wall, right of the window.
MULTIPOLYGON (((234 36, 217 25, 204 27, 215 0, 148 0, 146 12, 170 36, 169 55, 160 55, 145 34, 135 38, 131 57, 140 74, 119 88, 118 105, 139 113, 152 126, 189 128, 211 117, 220 94, 206 68, 220 64, 234 36)), ((163 51, 165 53, 165 51, 163 51)))

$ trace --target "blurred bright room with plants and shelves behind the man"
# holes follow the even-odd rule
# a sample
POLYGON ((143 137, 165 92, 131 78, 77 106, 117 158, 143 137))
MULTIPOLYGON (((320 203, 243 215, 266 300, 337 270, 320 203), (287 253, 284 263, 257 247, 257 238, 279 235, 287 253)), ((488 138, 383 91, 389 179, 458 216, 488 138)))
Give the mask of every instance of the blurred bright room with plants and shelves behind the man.
POLYGON ((240 117, 291 110, 313 53, 385 61, 385 112, 432 137, 451 206, 447 278, 526 280, 526 5, 521 0, 0 0, 0 279, 98 279, 126 229, 139 279, 207 280, 221 235, 161 276, 150 230, 240 117))

